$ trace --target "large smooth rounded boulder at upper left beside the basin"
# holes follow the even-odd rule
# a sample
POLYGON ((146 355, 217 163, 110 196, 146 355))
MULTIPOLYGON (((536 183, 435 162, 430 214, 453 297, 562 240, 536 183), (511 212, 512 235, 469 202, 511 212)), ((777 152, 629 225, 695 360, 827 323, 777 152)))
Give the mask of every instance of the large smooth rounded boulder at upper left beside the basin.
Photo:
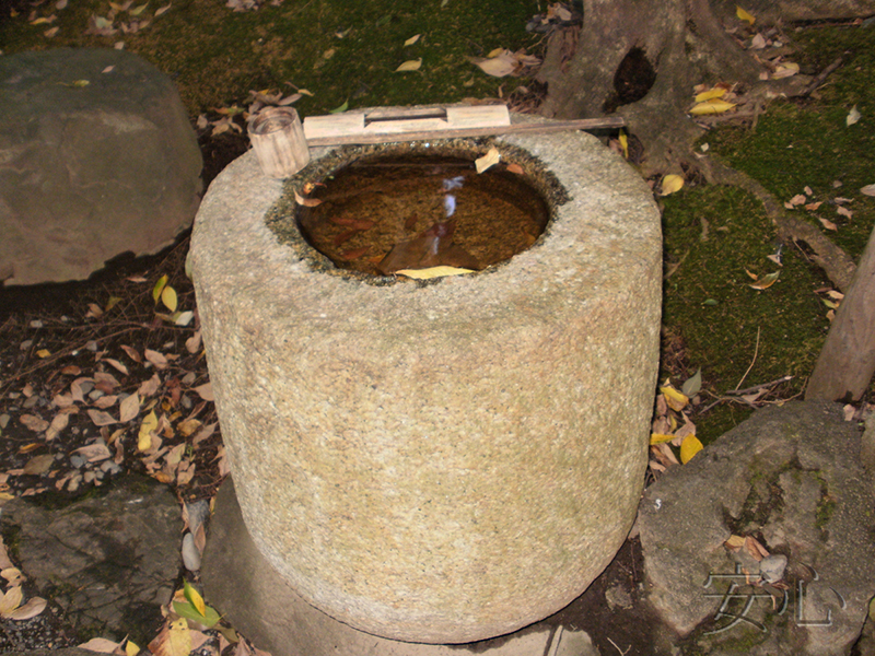
POLYGON ((0 116, 5 284, 84 279, 122 253, 160 250, 191 224, 197 138, 173 82, 136 55, 0 57, 0 116))

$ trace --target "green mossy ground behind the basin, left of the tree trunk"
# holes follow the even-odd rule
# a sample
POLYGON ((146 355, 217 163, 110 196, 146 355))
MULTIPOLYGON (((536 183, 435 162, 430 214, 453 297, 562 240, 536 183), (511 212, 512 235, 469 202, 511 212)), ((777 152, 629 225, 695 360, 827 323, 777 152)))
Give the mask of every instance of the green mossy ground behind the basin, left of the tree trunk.
MULTIPOLYGON (((7 0, 8 1, 8 0, 7 0)), ((144 1, 144 0, 143 0, 144 1)), ((137 16, 153 16, 165 0, 151 0, 137 16)), ((120 3, 119 3, 120 4, 120 3)), ((130 9, 140 7, 137 1, 130 9)), ((349 102, 350 107, 450 103, 464 97, 508 93, 517 79, 490 78, 468 56, 493 48, 516 50, 540 38, 525 31, 538 11, 532 0, 285 0, 278 7, 233 12, 223 0, 174 0, 170 10, 136 34, 86 35, 89 16, 106 17, 108 0, 70 0, 36 10, 34 19, 56 15, 51 24, 32 25, 28 10, 0 26, 3 51, 54 47, 112 48, 124 40, 168 73, 192 116, 211 107, 243 102, 249 90, 292 93, 312 91, 296 107, 304 116, 325 114, 349 102), (45 32, 59 27, 51 38, 45 32), (404 43, 421 34, 411 45, 404 43), (422 58, 418 71, 396 73, 398 66, 422 58), (294 86, 292 86, 294 85, 294 86)), ((118 12, 117 22, 132 16, 118 12)))

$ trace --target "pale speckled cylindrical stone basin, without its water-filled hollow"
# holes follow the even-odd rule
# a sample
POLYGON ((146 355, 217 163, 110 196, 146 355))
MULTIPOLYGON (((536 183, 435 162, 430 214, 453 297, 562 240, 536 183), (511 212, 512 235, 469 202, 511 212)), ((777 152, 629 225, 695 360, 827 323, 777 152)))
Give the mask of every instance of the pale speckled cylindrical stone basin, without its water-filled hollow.
MULTIPOLYGON (((650 190, 588 134, 494 143, 537 157, 571 200, 485 272, 325 272, 266 225, 283 184, 253 152, 196 219, 246 526, 304 599, 394 640, 482 640, 564 607, 615 555, 643 485, 662 267, 650 190)), ((312 155, 287 192, 326 153, 312 155)))

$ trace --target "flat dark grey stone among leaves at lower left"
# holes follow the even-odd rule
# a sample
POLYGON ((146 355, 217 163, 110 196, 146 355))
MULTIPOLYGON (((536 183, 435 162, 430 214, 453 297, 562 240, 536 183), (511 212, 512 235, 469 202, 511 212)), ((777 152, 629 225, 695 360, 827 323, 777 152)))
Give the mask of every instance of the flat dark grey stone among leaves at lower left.
POLYGON ((180 571, 183 523, 166 485, 131 475, 58 509, 14 499, 2 526, 25 575, 77 631, 138 644, 154 637, 180 571))

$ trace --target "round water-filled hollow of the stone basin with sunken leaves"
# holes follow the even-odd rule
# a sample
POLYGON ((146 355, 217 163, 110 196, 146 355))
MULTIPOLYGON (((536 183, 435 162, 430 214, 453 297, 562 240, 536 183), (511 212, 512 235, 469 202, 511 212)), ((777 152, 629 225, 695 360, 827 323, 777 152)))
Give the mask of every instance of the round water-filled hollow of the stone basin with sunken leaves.
POLYGON ((377 154, 312 187, 319 204, 298 206, 310 246, 339 269, 386 276, 451 266, 481 270, 529 248, 550 207, 518 164, 483 173, 474 157, 377 154))

